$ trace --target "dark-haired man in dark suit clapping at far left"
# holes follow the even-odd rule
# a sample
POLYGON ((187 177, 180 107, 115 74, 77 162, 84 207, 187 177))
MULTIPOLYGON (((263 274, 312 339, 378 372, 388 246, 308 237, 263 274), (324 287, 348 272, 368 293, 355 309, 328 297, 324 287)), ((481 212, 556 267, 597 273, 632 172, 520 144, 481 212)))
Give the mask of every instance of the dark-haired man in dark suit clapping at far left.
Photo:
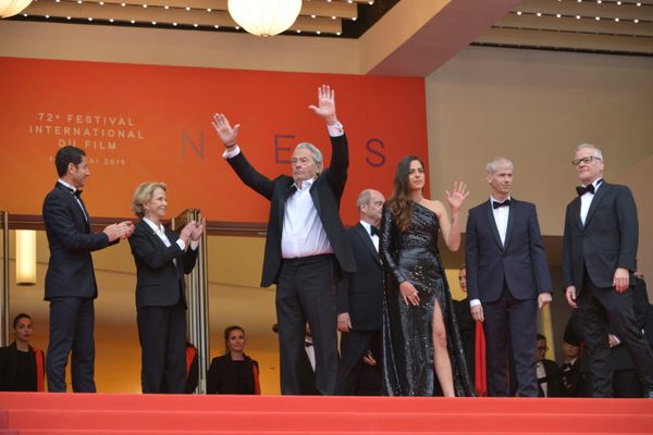
POLYGON ((72 350, 73 391, 95 393, 94 299, 98 296, 90 252, 116 244, 134 231, 131 222, 93 233, 81 188, 90 175, 86 153, 61 148, 54 158, 59 181, 44 201, 50 261, 46 296, 50 301, 48 389, 65 391, 65 365, 72 350))

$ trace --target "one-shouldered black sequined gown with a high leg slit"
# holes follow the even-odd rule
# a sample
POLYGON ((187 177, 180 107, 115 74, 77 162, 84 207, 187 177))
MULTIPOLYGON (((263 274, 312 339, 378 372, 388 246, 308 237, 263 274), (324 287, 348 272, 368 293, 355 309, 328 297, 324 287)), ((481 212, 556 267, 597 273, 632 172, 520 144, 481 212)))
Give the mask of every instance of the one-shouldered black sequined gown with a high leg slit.
POLYGON ((438 251, 438 216, 412 202, 412 222, 399 234, 390 210, 383 210, 381 254, 385 264, 383 307, 383 394, 387 396, 441 395, 433 365, 433 308, 444 316, 456 396, 473 396, 452 296, 438 251), (419 306, 406 304, 398 282, 419 291, 419 306))

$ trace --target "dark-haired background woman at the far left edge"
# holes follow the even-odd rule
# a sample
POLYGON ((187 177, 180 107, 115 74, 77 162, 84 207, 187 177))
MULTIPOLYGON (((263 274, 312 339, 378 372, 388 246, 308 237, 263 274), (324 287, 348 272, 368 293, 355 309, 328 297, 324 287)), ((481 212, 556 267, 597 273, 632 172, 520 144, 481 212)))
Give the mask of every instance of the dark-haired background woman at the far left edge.
POLYGON ((33 323, 28 314, 13 320, 14 341, 0 348, 0 391, 42 391, 44 351, 32 347, 33 323))

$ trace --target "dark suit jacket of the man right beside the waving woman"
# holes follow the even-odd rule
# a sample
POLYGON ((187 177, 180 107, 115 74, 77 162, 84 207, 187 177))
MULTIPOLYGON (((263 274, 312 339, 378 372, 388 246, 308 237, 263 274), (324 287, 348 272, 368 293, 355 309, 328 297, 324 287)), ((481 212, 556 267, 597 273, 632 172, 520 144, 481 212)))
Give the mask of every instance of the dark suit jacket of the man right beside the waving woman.
POLYGON ((498 300, 504 281, 518 300, 553 290, 535 206, 512 198, 509 208, 505 246, 490 201, 469 210, 465 250, 470 300, 498 300))

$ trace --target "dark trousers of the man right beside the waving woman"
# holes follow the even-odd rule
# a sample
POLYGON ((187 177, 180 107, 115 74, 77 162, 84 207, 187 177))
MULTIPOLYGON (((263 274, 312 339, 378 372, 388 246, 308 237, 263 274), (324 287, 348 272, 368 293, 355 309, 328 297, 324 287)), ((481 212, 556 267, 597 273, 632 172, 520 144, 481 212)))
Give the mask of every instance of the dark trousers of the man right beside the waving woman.
POLYGON ((488 396, 507 397, 508 364, 513 352, 517 394, 538 397, 535 372, 537 315, 535 299, 517 300, 504 283, 501 298, 483 303, 488 396))

